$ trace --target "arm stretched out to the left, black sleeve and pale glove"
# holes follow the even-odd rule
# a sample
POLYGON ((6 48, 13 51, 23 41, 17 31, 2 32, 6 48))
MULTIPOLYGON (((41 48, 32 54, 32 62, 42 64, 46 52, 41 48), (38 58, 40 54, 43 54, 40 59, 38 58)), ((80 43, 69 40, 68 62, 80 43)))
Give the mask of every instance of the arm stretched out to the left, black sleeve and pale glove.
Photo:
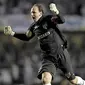
POLYGON ((30 30, 28 30, 26 33, 16 33, 10 26, 6 26, 4 28, 4 34, 11 35, 23 41, 28 41, 34 36, 34 34, 30 30))

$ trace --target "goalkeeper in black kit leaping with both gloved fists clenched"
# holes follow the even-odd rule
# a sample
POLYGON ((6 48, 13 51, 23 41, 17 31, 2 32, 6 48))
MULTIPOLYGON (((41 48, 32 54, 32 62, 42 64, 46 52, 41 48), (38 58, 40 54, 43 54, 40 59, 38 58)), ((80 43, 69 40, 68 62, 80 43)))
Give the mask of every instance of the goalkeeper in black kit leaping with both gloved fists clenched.
POLYGON ((67 51, 67 40, 58 29, 57 24, 63 24, 65 21, 54 3, 49 5, 53 15, 44 15, 40 4, 35 4, 31 8, 31 16, 34 20, 26 33, 18 34, 12 31, 10 26, 4 28, 5 35, 11 35, 18 39, 28 41, 37 36, 41 54, 42 66, 39 69, 38 78, 42 80, 43 85, 51 85, 51 81, 59 68, 65 77, 73 84, 85 85, 85 81, 75 76, 70 63, 70 56, 67 51))

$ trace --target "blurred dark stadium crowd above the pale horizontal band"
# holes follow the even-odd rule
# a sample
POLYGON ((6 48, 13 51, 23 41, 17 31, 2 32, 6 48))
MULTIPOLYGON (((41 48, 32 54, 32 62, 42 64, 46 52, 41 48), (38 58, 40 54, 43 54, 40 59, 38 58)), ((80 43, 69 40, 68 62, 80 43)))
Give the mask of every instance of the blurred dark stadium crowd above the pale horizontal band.
MULTIPOLYGON (((41 3, 46 7, 52 0, 0 0, 0 15, 4 14, 27 14, 34 3, 41 3)), ((84 0, 53 0, 63 14, 85 16, 84 0), (69 10, 70 9, 70 10, 69 10)))

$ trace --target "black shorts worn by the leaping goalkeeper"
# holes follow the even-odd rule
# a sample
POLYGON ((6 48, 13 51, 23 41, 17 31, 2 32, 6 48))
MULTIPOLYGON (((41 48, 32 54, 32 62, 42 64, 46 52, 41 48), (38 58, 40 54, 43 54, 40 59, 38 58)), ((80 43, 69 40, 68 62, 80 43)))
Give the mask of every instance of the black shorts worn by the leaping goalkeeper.
POLYGON ((65 75, 68 73, 73 74, 70 55, 66 49, 64 49, 63 53, 56 55, 56 57, 44 57, 38 72, 38 78, 41 79, 43 72, 50 72, 52 78, 54 78, 57 68, 61 69, 65 75))

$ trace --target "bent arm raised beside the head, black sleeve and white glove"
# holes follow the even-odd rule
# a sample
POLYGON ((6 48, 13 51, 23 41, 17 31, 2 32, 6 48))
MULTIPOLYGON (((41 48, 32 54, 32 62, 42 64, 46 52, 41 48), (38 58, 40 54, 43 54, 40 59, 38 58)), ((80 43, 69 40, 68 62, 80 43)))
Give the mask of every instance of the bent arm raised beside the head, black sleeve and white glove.
POLYGON ((65 22, 65 19, 60 15, 59 10, 57 9, 56 5, 54 3, 51 3, 49 5, 50 10, 55 14, 55 16, 52 16, 51 21, 57 24, 62 24, 65 22))

